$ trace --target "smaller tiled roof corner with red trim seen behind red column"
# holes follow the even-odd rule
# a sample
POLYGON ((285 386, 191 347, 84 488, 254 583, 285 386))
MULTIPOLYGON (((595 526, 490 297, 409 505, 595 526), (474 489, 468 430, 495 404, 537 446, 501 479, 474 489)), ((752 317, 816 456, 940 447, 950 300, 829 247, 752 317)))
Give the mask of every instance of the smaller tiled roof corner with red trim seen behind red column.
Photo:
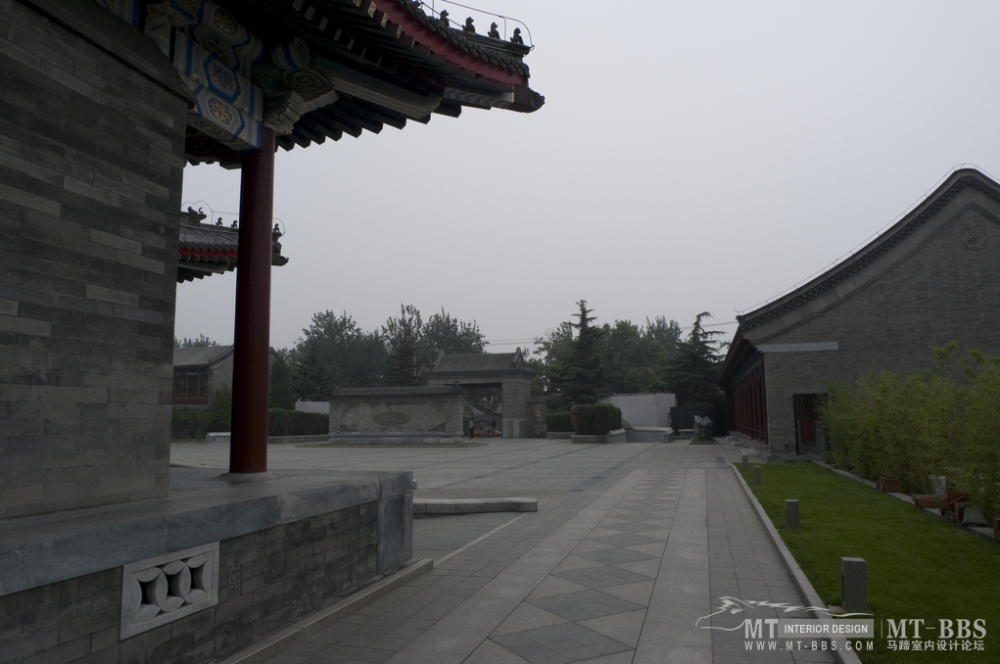
MULTIPOLYGON (((177 281, 193 281, 212 274, 236 269, 240 231, 236 225, 203 224, 205 215, 188 208, 183 215, 180 242, 177 246, 177 281)), ((271 265, 281 266, 288 258, 281 255, 281 233, 274 231, 271 265)))

